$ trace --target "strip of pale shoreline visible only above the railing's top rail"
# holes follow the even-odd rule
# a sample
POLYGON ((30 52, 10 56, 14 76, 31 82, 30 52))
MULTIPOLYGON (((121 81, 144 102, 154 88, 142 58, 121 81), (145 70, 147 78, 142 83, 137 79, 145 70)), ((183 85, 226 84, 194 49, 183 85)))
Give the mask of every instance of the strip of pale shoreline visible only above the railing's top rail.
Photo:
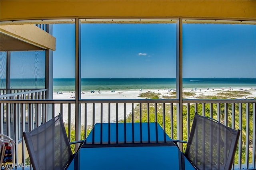
MULTIPOLYGON (((159 94, 160 98, 164 96, 164 98, 168 98, 168 96, 172 97, 176 95, 176 89, 136 89, 136 90, 115 90, 115 92, 111 92, 112 90, 95 90, 91 92, 90 90, 83 90, 81 92, 82 99, 144 99, 139 97, 140 94, 146 92, 153 92, 159 94)), ((57 94, 54 92, 54 99, 72 99, 75 98, 74 91, 58 91, 62 94, 57 94)), ((256 98, 256 88, 254 87, 246 87, 246 88, 185 88, 182 90, 185 92, 185 98, 188 99, 198 99, 202 96, 228 96, 231 95, 232 92, 238 92, 238 97, 234 94, 232 98, 244 99, 244 98, 256 98), (191 96, 189 96, 191 94, 191 96)))

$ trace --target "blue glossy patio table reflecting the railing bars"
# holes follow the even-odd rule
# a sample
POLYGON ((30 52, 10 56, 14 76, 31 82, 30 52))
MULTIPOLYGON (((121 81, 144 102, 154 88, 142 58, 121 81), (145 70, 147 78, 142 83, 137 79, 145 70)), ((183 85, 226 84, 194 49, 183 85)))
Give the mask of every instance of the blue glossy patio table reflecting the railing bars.
POLYGON ((97 123, 68 170, 195 170, 158 123, 97 123))

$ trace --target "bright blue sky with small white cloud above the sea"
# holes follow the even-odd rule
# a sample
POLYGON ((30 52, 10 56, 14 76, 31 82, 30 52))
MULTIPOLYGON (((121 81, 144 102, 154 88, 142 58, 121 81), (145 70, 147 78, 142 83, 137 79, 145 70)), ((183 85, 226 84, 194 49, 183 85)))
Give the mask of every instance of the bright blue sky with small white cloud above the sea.
MULTIPOLYGON (((54 78, 75 77, 74 24, 55 24, 54 78)), ((176 76, 176 25, 82 24, 82 78, 176 76)), ((256 25, 183 24, 183 76, 256 78, 256 25)))

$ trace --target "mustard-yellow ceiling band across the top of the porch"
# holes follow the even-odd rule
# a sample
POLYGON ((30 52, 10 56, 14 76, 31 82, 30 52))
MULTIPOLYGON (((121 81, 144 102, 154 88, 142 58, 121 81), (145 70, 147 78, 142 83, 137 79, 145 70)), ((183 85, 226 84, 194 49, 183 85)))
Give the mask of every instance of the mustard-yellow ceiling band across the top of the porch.
POLYGON ((256 20, 255 0, 0 0, 0 20, 214 18, 256 20))

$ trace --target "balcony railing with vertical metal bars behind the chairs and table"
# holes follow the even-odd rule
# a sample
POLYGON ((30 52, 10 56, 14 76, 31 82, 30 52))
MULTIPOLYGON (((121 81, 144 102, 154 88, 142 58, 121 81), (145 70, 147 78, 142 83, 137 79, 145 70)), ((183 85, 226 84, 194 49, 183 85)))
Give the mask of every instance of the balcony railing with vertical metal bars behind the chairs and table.
MULTIPOLYGON (((36 92, 35 92, 36 93, 36 92)), ((22 94, 18 94, 22 95, 22 94)), ((16 142, 15 162, 25 162, 26 147, 21 133, 30 131, 62 113, 68 138, 75 140, 78 123, 81 139, 85 139, 95 123, 158 122, 171 139, 188 139, 195 111, 217 119, 224 125, 241 129, 234 169, 256 168, 256 100, 182 100, 182 119, 177 108, 179 100, 20 100, 2 99, 0 104, 0 133, 16 142), (78 119, 79 117, 79 119, 78 119), (183 129, 177 124, 182 123, 183 129)), ((185 149, 186 146, 183 146, 185 149)))

